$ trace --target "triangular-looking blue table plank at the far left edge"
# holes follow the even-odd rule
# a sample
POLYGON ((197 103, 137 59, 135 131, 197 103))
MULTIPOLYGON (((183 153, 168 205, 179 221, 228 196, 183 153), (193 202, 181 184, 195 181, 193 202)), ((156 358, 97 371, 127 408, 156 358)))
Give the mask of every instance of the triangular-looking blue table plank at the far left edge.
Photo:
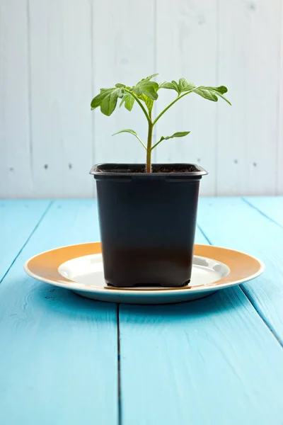
POLYGON ((0 282, 49 205, 47 200, 0 200, 0 282))

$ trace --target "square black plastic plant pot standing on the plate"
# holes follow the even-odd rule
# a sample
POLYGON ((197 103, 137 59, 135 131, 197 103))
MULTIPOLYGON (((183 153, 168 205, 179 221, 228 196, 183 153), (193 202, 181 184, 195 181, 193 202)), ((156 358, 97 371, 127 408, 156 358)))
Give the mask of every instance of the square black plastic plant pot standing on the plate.
POLYGON ((105 282, 116 287, 190 282, 200 179, 194 164, 98 164, 94 175, 105 282), (182 172, 184 169, 192 172, 182 172))

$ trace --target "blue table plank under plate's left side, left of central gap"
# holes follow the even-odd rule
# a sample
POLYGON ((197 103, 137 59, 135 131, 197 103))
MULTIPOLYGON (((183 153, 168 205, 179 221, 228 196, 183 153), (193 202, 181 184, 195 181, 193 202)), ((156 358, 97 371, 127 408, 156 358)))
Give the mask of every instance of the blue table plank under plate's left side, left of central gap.
POLYGON ((37 252, 97 239, 96 202, 54 202, 1 283, 1 424, 117 424, 116 305, 23 272, 37 252))

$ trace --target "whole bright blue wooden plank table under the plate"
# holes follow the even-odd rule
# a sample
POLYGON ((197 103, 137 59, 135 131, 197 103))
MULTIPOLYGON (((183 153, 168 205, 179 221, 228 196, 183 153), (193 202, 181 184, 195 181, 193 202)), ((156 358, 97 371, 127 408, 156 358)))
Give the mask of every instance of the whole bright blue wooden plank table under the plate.
POLYGON ((96 302, 23 271, 98 239, 95 200, 0 200, 0 424, 282 425, 283 198, 200 200, 196 241, 266 271, 194 302, 96 302))

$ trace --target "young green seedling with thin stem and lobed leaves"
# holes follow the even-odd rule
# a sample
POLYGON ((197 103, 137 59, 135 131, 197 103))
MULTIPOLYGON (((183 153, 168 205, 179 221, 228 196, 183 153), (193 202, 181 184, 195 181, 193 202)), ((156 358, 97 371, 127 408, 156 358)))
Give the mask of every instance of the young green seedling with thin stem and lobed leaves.
POLYGON ((190 131, 175 132, 171 136, 161 137, 155 145, 152 145, 152 135, 154 130, 154 125, 160 120, 166 111, 168 111, 171 106, 173 106, 177 101, 180 101, 181 98, 187 96, 187 94, 195 93, 199 96, 202 96, 209 101, 216 102, 218 98, 224 99, 229 105, 231 103, 224 96, 227 93, 228 89, 225 86, 211 87, 211 86, 196 86, 190 81, 187 81, 185 78, 180 78, 179 82, 163 82, 161 84, 156 83, 156 81, 151 81, 158 74, 150 75, 144 79, 141 79, 135 86, 126 86, 125 84, 117 83, 115 87, 110 89, 100 89, 100 94, 98 94, 91 101, 91 109, 96 109, 100 106, 100 111, 104 115, 110 116, 117 106, 117 101, 120 99, 120 107, 125 106, 128 111, 132 111, 134 103, 137 102, 141 111, 144 113, 144 116, 147 120, 148 131, 147 131, 147 142, 144 144, 142 140, 137 135, 137 132, 129 128, 120 130, 115 135, 121 132, 129 132, 134 137, 139 140, 141 145, 146 149, 146 172, 151 173, 151 154, 152 151, 159 145, 163 140, 173 139, 174 137, 184 137, 190 133, 190 131), (168 89, 174 90, 177 93, 177 97, 169 103, 166 108, 157 115, 155 119, 152 118, 152 111, 154 108, 154 102, 158 99, 158 90, 168 89))

